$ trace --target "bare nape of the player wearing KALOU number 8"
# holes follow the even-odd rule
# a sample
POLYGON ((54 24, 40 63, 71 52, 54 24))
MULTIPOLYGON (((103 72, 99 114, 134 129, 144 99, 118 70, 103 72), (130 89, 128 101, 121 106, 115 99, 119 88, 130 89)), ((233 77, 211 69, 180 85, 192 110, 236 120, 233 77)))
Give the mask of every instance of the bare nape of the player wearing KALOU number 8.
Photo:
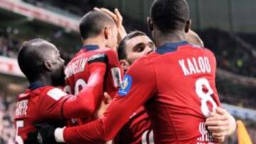
POLYGON ((156 47, 161 47, 166 43, 178 43, 186 40, 184 33, 168 33, 156 35, 156 47))

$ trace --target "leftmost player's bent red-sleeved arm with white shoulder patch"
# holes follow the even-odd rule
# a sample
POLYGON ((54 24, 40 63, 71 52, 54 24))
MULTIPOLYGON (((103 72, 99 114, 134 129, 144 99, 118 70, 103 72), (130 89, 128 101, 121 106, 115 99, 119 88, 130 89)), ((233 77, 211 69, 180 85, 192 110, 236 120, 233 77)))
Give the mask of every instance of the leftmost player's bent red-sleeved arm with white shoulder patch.
MULTIPOLYGON (((105 55, 104 55, 105 57, 105 55)), ((80 118, 95 112, 103 93, 103 81, 106 72, 105 62, 89 60, 90 78, 87 86, 77 96, 66 94, 61 89, 52 88, 40 103, 41 117, 80 118)))

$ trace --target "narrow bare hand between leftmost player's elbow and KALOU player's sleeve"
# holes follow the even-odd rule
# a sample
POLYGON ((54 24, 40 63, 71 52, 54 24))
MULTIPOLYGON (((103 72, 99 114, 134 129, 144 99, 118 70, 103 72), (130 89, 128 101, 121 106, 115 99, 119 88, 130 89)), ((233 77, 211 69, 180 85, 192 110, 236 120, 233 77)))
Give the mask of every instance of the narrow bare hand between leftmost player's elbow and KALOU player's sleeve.
POLYGON ((110 105, 112 99, 107 92, 104 93, 104 97, 102 99, 102 102, 100 104, 100 108, 97 110, 95 118, 100 118, 103 116, 103 113, 107 110, 107 107, 110 105))

